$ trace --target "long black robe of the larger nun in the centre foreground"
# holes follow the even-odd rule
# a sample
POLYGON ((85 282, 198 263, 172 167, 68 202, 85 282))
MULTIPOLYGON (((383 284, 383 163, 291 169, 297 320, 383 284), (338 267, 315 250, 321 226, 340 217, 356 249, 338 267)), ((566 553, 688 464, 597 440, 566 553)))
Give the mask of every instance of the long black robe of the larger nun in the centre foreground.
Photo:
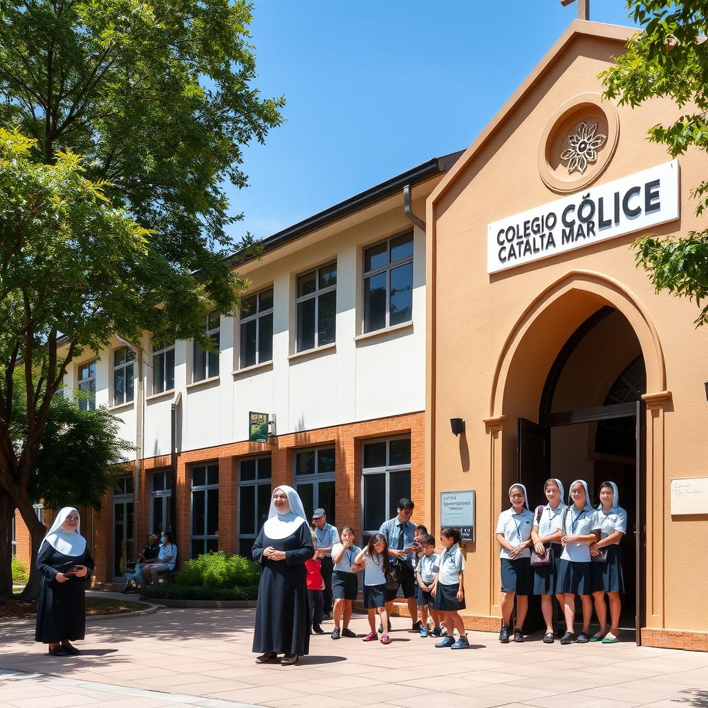
POLYGON ((292 535, 271 539, 262 528, 252 553, 253 560, 261 564, 253 651, 305 656, 311 629, 305 561, 314 556, 312 532, 302 523, 292 535), (285 551, 285 560, 263 557, 268 546, 285 551))

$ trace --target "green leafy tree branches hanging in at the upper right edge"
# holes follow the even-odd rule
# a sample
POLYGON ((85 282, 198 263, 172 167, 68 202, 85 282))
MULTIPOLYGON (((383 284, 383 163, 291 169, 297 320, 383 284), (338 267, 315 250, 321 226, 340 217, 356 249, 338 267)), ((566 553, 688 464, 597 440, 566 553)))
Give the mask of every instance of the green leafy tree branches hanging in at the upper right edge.
MULTIPOLYGON (((652 142, 671 156, 708 151, 708 1, 628 0, 630 17, 644 31, 627 42, 627 51, 600 74, 605 98, 632 107, 651 98, 670 97, 685 112, 674 122, 649 129, 652 142)), ((708 179, 692 191, 696 213, 708 205, 708 179)), ((656 292, 668 290, 696 302, 697 325, 708 321, 708 229, 678 238, 643 236, 634 244, 636 261, 649 272, 656 292)))

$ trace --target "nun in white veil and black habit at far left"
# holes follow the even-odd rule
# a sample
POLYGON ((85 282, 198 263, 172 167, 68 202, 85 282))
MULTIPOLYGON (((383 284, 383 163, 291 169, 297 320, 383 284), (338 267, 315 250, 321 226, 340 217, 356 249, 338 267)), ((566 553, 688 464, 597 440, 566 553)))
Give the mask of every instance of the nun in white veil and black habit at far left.
POLYGON ((73 507, 65 506, 57 514, 40 545, 37 568, 42 580, 35 641, 49 644, 52 656, 75 656, 81 652, 70 642, 84 639, 84 586, 91 577, 93 559, 81 536, 79 512, 73 507))

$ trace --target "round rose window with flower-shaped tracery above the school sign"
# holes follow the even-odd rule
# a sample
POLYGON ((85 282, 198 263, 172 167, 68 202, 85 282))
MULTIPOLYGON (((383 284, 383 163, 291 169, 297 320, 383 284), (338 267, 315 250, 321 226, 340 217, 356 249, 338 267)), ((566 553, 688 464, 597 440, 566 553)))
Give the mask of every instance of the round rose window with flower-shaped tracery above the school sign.
POLYGON ((619 116, 598 93, 583 93, 549 120, 538 152, 542 180, 554 192, 575 192, 610 164, 619 137, 619 116))

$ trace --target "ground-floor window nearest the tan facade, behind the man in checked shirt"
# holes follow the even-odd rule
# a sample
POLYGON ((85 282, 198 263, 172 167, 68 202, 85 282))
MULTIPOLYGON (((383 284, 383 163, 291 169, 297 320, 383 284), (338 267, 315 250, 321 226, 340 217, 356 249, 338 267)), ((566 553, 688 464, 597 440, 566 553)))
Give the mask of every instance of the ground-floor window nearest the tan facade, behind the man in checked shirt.
POLYGON ((362 541, 368 542, 394 518, 399 499, 411 496, 411 438, 367 440, 362 447, 362 541))

